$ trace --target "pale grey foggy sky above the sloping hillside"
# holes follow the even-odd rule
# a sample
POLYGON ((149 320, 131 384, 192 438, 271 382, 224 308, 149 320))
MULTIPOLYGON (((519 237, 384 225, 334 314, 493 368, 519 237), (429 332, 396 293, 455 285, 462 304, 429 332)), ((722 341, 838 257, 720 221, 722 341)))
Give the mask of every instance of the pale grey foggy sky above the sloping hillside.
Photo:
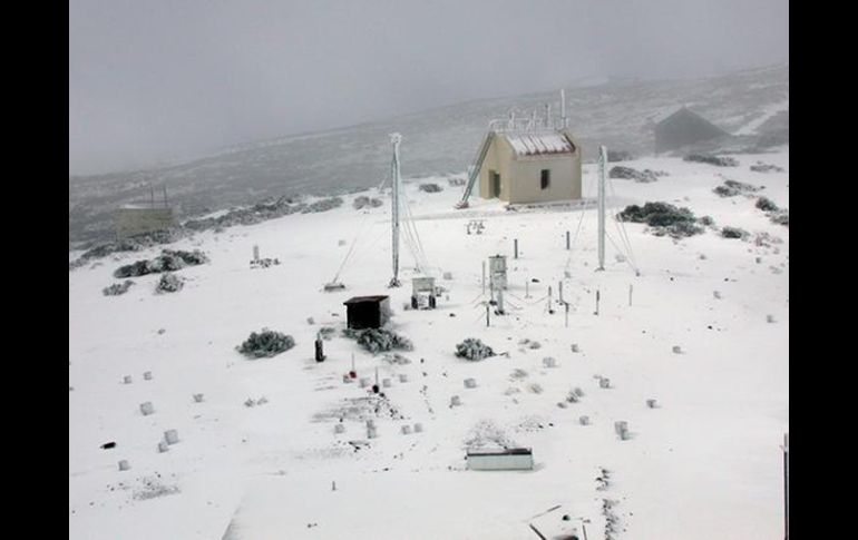
POLYGON ((69 174, 789 60, 788 0, 70 0, 69 174))

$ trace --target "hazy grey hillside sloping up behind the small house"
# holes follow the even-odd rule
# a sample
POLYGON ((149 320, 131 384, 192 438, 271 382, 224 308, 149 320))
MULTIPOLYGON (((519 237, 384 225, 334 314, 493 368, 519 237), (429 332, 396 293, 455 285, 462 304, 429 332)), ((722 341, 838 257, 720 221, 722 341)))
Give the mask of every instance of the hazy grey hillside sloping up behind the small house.
MULTIPOLYGON (((503 89, 498 91, 503 92, 503 89)), ((789 111, 789 65, 679 80, 612 80, 567 87, 569 127, 585 148, 649 155, 654 150, 651 120, 686 105, 730 132, 789 140, 789 122, 772 118, 789 111)), ((409 176, 459 173, 474 159, 489 120, 515 111, 559 109, 559 94, 480 99, 397 118, 265 140, 169 167, 69 178, 69 242, 111 236, 114 213, 123 204, 148 202, 150 185, 166 184, 169 199, 185 217, 230 205, 283 195, 339 194, 379 184, 387 174, 391 131, 402 148, 409 176)), ((741 147, 752 146, 743 141, 741 147)), ((738 150, 735 150, 738 151, 738 150)))

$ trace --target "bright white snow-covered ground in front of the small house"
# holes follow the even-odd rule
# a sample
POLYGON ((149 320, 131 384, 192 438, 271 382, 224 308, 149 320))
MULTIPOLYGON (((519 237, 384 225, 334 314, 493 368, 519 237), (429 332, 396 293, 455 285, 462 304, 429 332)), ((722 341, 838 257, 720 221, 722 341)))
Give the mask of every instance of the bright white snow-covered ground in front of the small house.
MULTIPOLYGON (((117 282, 117 266, 156 249, 70 272, 69 538, 519 539, 537 538, 534 523, 546 536, 575 528, 582 538, 583 526, 598 539, 604 499, 616 501, 617 539, 778 538, 779 444, 789 425, 789 229, 770 223, 753 198, 721 198, 712 188, 724 178, 766 186, 761 195, 788 207, 789 173, 749 166, 759 159, 788 169, 789 151, 735 157, 735 168, 676 158, 624 163, 670 176, 612 180, 613 209, 664 200, 782 242, 758 246, 713 230, 674 242, 626 224, 640 276, 617 261, 611 242, 605 272, 594 272, 594 209, 509 212, 475 199, 454 210, 461 188, 445 178, 421 180, 441 185, 439 194, 407 184, 426 255, 448 289, 435 311, 403 308, 415 275, 404 247, 406 285, 387 288, 388 196, 370 210, 352 208, 355 194, 334 210, 184 239, 170 247, 203 249, 211 263, 179 271, 188 283, 175 294, 153 294, 156 275, 135 278, 125 295, 101 294, 117 282), (485 233, 467 235, 475 218, 485 233), (341 275, 348 288, 322 292, 355 238, 341 275), (254 245, 282 264, 251 269, 254 245), (486 327, 481 263, 495 254, 509 256, 508 314, 493 315, 486 327), (556 305, 560 281, 568 326, 556 305), (392 327, 415 344, 403 353, 410 363, 373 357, 339 332, 325 342, 328 360, 314 362, 320 327, 344 327, 343 301, 368 294, 391 295, 392 327), (293 335, 296 347, 245 360, 235 346, 262 327, 293 335), (466 337, 508 357, 457 359, 455 345, 466 337), (520 345, 525 338, 542 346, 520 345), (380 406, 367 389, 343 382, 352 354, 359 376, 374 377, 378 367, 391 379, 380 406), (544 366, 548 356, 556 367, 544 366), (599 387, 595 375, 612 387, 599 387), (477 387, 465 387, 468 377, 477 387), (584 392, 579 402, 558 406, 575 387, 584 392), (204 401, 195 402, 196 393, 204 401), (460 406, 450 408, 454 395, 460 406), (266 403, 244 404, 263 396, 266 403), (650 399, 660 406, 649 408, 650 399), (144 402, 154 414, 140 413, 144 402), (337 434, 340 418, 345 431, 337 434), (376 419, 378 438, 367 439, 365 418, 376 419), (618 440, 615 421, 628 423, 631 439, 618 440), (415 423, 421 433, 401 433, 415 423), (535 470, 468 471, 465 441, 489 428, 533 448, 535 470), (159 453, 169 429, 179 442, 159 453), (109 441, 116 446, 100 448, 109 441), (120 460, 130 470, 119 471, 120 460), (602 468, 610 471, 605 489, 596 481, 602 468)), ((595 173, 585 167, 585 196, 595 196, 595 173)), ((613 219, 607 230, 621 245, 613 219)))

